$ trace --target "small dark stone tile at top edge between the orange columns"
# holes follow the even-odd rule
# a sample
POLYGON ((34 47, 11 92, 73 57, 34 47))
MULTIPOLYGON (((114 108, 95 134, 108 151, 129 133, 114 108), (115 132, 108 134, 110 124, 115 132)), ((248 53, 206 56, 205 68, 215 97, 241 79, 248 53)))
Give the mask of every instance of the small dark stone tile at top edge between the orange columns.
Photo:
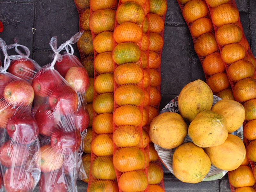
POLYGON ((177 0, 167 1, 165 25, 186 25, 177 0))

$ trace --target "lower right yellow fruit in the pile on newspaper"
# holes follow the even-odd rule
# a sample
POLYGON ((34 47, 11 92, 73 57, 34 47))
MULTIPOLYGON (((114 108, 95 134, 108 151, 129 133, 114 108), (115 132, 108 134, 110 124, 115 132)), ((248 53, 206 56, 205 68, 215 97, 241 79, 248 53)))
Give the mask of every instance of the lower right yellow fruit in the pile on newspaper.
POLYGON ((237 169, 244 161, 246 153, 243 141, 232 134, 228 134, 223 144, 204 148, 204 151, 215 167, 227 171, 237 169))

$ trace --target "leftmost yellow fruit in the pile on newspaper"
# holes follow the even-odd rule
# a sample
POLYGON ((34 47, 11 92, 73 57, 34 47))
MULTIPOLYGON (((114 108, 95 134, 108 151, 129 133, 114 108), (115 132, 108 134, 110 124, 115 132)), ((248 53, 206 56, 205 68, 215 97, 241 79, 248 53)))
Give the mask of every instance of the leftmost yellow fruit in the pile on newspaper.
POLYGON ((188 133, 188 125, 174 112, 164 112, 155 117, 149 127, 153 143, 162 148, 172 149, 181 145, 188 133))

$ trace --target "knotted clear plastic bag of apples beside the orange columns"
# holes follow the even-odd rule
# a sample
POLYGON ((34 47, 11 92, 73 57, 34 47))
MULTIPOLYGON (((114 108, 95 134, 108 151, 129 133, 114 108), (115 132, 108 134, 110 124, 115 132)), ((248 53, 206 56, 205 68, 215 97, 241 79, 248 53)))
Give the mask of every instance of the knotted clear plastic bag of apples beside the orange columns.
POLYGON ((41 141, 40 192, 77 191, 76 180, 83 167, 81 141, 89 124, 85 101, 89 77, 71 46, 81 35, 77 33, 59 48, 57 38, 52 37, 54 59, 39 70, 32 81, 41 141), (63 49, 67 53, 61 56, 63 49))

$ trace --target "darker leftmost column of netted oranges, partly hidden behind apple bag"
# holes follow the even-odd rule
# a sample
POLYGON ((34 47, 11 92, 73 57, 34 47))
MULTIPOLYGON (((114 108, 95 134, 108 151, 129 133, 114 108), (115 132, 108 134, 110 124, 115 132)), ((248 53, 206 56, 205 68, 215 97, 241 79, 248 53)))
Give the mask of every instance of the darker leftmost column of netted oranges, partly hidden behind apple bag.
POLYGON ((92 44, 92 33, 89 27, 89 17, 90 17, 90 2, 89 0, 74 0, 79 15, 79 29, 84 30, 84 34, 79 39, 77 43, 80 57, 84 68, 86 68, 90 85, 86 91, 86 102, 87 110, 90 115, 90 123, 87 128, 87 133, 83 140, 84 145, 84 155, 82 157, 84 171, 86 176, 83 179, 84 182, 89 181, 90 172, 90 162, 91 162, 91 142, 92 142, 92 100, 93 100, 93 82, 94 82, 94 70, 93 70, 93 44, 92 44))

